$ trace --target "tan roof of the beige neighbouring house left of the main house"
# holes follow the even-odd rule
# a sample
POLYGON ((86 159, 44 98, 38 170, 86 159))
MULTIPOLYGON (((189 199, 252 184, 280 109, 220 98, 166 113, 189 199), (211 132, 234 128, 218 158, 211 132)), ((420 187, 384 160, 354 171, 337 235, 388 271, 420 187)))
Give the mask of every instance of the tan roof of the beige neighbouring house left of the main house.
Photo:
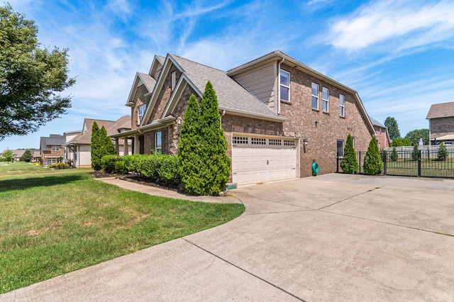
POLYGON ((131 129, 131 116, 122 116, 116 121, 96 120, 93 118, 84 118, 84 125, 82 133, 76 135, 72 140, 65 145, 90 145, 92 143, 92 128, 93 123, 96 121, 99 128, 106 128, 107 135, 114 135, 118 133, 118 129, 127 128, 131 129))

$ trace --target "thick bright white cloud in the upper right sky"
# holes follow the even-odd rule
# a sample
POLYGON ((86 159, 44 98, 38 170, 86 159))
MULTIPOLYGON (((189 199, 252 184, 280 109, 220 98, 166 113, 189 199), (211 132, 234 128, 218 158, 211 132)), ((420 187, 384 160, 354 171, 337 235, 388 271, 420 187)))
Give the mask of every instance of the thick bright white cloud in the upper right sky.
POLYGON ((328 42, 349 51, 383 42, 399 50, 436 43, 454 37, 450 11, 454 11, 453 1, 425 5, 420 1, 372 1, 335 21, 328 42))

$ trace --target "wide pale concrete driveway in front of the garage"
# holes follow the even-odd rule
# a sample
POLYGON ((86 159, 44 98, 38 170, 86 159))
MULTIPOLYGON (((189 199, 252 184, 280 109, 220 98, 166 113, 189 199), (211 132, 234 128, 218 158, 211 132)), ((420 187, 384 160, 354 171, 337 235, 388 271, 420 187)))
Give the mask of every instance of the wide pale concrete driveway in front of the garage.
POLYGON ((326 174, 231 194, 216 201, 243 202, 236 220, 0 300, 454 301, 454 180, 326 174))

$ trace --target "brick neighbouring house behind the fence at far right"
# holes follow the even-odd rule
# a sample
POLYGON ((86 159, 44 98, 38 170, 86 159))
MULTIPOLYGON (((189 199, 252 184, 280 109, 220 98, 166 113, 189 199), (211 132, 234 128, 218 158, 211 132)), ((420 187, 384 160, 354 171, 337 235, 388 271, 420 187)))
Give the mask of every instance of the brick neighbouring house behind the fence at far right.
POLYGON ((428 130, 431 145, 440 142, 454 145, 454 102, 433 104, 428 110, 428 130))

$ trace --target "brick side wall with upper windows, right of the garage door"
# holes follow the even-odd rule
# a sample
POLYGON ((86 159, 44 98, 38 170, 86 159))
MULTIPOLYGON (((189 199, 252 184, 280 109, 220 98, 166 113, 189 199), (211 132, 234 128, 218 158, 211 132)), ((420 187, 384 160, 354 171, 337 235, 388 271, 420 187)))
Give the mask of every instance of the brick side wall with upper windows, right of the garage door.
POLYGON ((304 74, 288 65, 281 68, 290 72, 290 102, 281 102, 281 115, 288 118, 283 124, 285 136, 301 138, 301 177, 311 175, 312 160, 320 164, 320 174, 336 172, 337 140, 344 144, 350 133, 355 138, 355 150, 365 151, 370 133, 360 114, 354 96, 331 84, 304 74), (319 108, 322 108, 322 86, 329 89, 328 113, 311 108, 311 83, 319 84, 319 108), (345 96, 345 117, 339 116, 339 94, 345 96), (305 147, 303 139, 309 140, 305 147))

